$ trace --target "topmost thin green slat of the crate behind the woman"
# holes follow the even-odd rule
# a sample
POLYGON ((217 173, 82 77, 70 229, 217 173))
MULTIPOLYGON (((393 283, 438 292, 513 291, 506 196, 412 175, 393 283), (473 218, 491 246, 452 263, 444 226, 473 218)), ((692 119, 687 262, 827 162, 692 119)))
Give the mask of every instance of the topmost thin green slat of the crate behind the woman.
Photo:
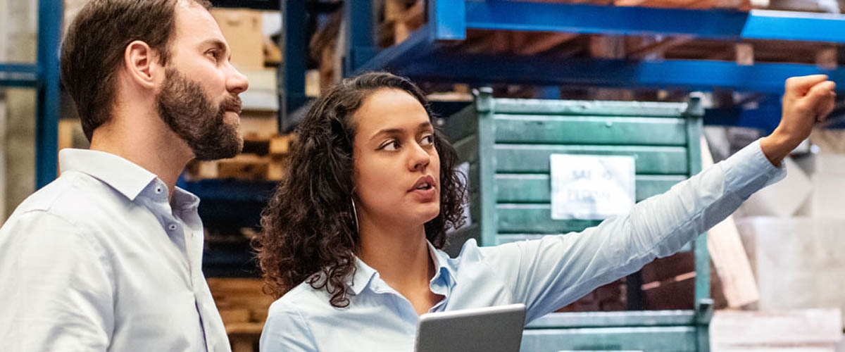
POLYGON ((497 114, 523 115, 596 115, 678 117, 687 110, 687 103, 495 99, 497 114))

